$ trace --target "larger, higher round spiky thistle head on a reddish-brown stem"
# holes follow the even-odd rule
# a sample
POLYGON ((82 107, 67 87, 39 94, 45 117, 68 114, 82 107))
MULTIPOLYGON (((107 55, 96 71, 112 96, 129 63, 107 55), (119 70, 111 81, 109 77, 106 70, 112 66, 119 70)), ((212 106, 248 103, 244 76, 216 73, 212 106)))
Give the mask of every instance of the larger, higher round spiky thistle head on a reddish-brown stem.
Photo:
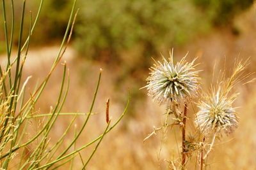
POLYGON ((188 99, 195 94, 199 88, 199 71, 194 71, 194 59, 192 62, 186 62, 183 57, 177 64, 173 63, 173 52, 170 53, 170 62, 163 57, 163 63, 156 62, 151 67, 150 76, 147 78, 148 96, 159 104, 170 101, 179 102, 180 99, 188 99))

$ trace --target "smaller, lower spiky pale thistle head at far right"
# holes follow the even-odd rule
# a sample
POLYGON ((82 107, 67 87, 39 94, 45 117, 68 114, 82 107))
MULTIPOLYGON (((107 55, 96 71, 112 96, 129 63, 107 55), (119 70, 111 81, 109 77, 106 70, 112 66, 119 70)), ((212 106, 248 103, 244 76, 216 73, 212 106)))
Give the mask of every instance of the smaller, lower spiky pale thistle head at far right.
POLYGON ((218 134, 230 134, 238 127, 238 117, 232 104, 236 100, 237 94, 231 97, 221 94, 219 88, 217 92, 212 92, 204 97, 204 101, 198 103, 200 111, 196 113, 195 124, 203 134, 217 132, 218 134))

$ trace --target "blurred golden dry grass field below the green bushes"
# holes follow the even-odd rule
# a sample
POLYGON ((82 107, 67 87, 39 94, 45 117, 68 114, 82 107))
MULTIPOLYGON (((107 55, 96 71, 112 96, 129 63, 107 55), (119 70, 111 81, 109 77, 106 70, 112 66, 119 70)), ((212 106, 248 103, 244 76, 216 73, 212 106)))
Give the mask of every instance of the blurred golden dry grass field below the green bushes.
MULTIPOLYGON (((200 81, 203 84, 202 89, 204 90, 208 90, 211 83, 215 83, 216 75, 223 71, 224 68, 227 70, 227 76, 229 76, 230 70, 237 59, 246 60, 250 58, 250 64, 246 67, 246 73, 256 72, 255 16, 256 6, 254 4, 250 10, 236 18, 236 27, 239 27, 241 30, 239 35, 232 34, 230 29, 221 27, 210 34, 197 36, 188 45, 174 46, 174 60, 180 60, 187 52, 189 53, 186 59, 189 61, 198 57, 196 62, 200 64, 196 68, 203 70, 199 74, 202 77, 200 81), (215 77, 212 77, 213 72, 215 77)), ((27 62, 24 65, 22 79, 22 81, 25 81, 28 76, 32 76, 28 83, 29 90, 33 91, 36 82, 42 81, 47 75, 57 52, 58 45, 56 44, 47 45, 43 48, 36 47, 30 50, 27 62)), ((168 49, 162 53, 167 57, 168 49)), ((97 152, 89 162, 87 169, 172 169, 168 167, 168 162, 175 162, 181 157, 177 151, 177 148, 181 150, 180 145, 177 145, 177 143, 181 143, 179 127, 169 127, 165 134, 163 131, 158 131, 156 135, 143 142, 143 139, 154 131, 154 127, 161 127, 163 125, 163 113, 166 109, 164 106, 159 107, 157 103, 154 103, 147 96, 146 89, 140 89, 147 83, 145 79, 148 76, 148 71, 140 73, 140 82, 135 82, 137 79, 134 78, 134 75, 129 75, 127 80, 120 83, 118 81, 120 74, 118 73, 122 71, 122 64, 111 66, 111 63, 90 60, 86 56, 83 58, 77 56, 76 50, 70 45, 63 59, 61 59, 61 63, 67 62, 70 76, 70 90, 67 101, 63 106, 63 113, 88 112, 99 70, 100 68, 103 69, 99 94, 93 108, 93 113, 97 114, 92 115, 90 122, 86 125, 86 129, 81 134, 81 138, 77 140, 77 148, 83 146, 84 143, 90 142, 104 131, 106 127, 105 109, 107 99, 110 99, 109 115, 115 121, 122 114, 129 91, 131 92, 131 104, 125 117, 111 133, 104 137, 97 152), (116 85, 117 83, 120 84, 116 85)), ((161 60, 159 56, 154 56, 154 59, 161 60)), ((150 56, 147 59, 153 64, 154 61, 150 56)), ((0 57, 0 60, 1 64, 6 62, 3 57, 0 57)), ((138 65, 138 67, 140 66, 138 65)), ((60 65, 52 73, 44 93, 35 105, 35 114, 49 113, 51 106, 56 104, 61 85, 62 71, 63 68, 60 65)), ((254 77, 255 74, 252 74, 248 80, 254 77)), ((235 91, 239 92, 239 97, 234 103, 235 107, 239 107, 237 108, 239 127, 230 136, 216 139, 205 169, 256 169, 256 86, 255 82, 246 85, 242 84, 235 87, 235 91)), ((190 103, 188 110, 189 120, 195 119, 196 111, 198 111, 196 105, 190 103)), ((51 142, 49 145, 53 145, 52 143, 60 138, 61 133, 65 131, 71 119, 71 116, 58 117, 51 131, 51 142)), ((75 122, 77 128, 81 127, 83 121, 84 116, 77 116, 75 122)), ((40 127, 40 121, 31 121, 29 127, 29 129, 33 130, 25 134, 24 141, 27 141, 31 138, 31 134, 36 132, 36 128, 40 127)), ((188 124, 188 127, 187 133, 192 134, 195 131, 195 125, 188 124)), ((64 146, 68 145, 72 138, 74 138, 74 131, 76 130, 72 128, 68 132, 68 138, 63 142, 64 146)), ((81 151, 83 159, 90 155, 93 146, 95 145, 81 151)), ((36 143, 29 145, 28 152, 35 147, 36 143)), ((20 155, 16 157, 16 163, 18 164, 20 155)), ((196 159, 196 157, 191 157, 191 161, 189 161, 186 169, 199 169, 198 165, 195 166, 196 159)), ((15 165, 13 163, 12 166, 15 167, 15 165)), ((10 166, 10 169, 12 169, 12 166, 10 166)), ((69 166, 67 164, 59 169, 68 169, 69 166)), ((81 159, 76 157, 74 159, 74 169, 81 169, 81 166, 81 159)))

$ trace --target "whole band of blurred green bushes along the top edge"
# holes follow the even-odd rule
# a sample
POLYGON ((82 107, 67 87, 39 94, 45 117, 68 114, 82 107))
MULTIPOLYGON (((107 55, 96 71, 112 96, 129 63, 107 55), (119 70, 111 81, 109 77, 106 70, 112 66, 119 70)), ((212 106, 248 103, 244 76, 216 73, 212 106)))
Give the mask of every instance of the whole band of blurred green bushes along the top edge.
MULTIPOLYGON (((72 1, 44 0, 40 25, 31 39, 34 45, 49 44, 61 38, 72 1)), ((14 3, 15 24, 19 25, 21 1, 14 3)), ((27 1, 26 15, 31 10, 33 20, 36 15, 33 11, 39 3, 27 1)), ((125 53, 150 57, 193 40, 196 34, 207 32, 212 26, 230 24, 234 15, 252 3, 253 0, 80 0, 77 1, 80 11, 73 44, 81 55, 106 62, 118 63, 124 60, 120 55, 125 53)), ((10 27, 10 16, 7 17, 10 27)), ((25 22, 28 28, 29 20, 25 22)), ((14 42, 19 36, 17 28, 14 42)), ((0 35, 0 40, 3 39, 4 35, 0 35)))

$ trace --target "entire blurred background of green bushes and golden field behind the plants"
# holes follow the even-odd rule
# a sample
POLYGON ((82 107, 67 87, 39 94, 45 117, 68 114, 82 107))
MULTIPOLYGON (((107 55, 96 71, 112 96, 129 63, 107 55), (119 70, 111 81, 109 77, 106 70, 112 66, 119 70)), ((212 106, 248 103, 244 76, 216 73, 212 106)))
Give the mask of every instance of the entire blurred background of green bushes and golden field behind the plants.
MULTIPOLYGON (((17 33, 14 42, 17 45, 21 4, 15 3, 17 33)), ((35 20, 39 3, 27 3, 25 35, 29 32, 29 11, 32 11, 32 19, 35 20)), ((63 112, 89 110, 99 69, 104 70, 94 108, 99 114, 93 115, 77 147, 103 131, 108 97, 110 115, 116 120, 124 110, 128 88, 131 92, 127 115, 104 138, 88 169, 168 169, 168 160, 179 157, 175 141, 180 143, 179 127, 169 129, 165 137, 158 132, 143 143, 154 127, 163 125, 165 112, 164 106, 159 107, 147 97, 147 90, 140 90, 146 85, 148 67, 154 63, 151 57, 161 60, 162 53, 167 58, 171 48, 174 48, 175 61, 179 61, 187 52, 188 61, 198 57, 200 64, 197 68, 204 70, 200 73, 204 90, 208 90, 212 83, 214 65, 216 73, 226 66, 228 76, 236 59, 250 57, 251 64, 246 71, 256 71, 256 4, 253 0, 94 0, 78 1, 77 7, 80 10, 74 35, 63 57, 70 69, 71 84, 63 112)), ((71 8, 72 0, 44 1, 38 25, 31 37, 28 62, 24 67, 24 80, 29 75, 33 76, 29 81, 31 90, 51 68, 71 8)), ((7 17, 10 20, 11 13, 7 17)), ((3 21, 3 17, 0 19, 3 21)), ((6 56, 3 25, 0 32, 3 61, 6 56)), ((61 76, 62 67, 59 66, 38 103, 38 112, 47 113, 50 106, 56 103, 61 76)), ((236 90, 240 93, 236 101, 240 126, 234 134, 216 142, 207 169, 256 169, 255 85, 238 85, 236 90)), ((189 110, 191 119, 197 110, 193 105, 190 108, 195 110, 189 110)), ((53 140, 55 136, 60 137, 71 118, 61 118, 54 127, 56 133, 52 134, 53 140)), ((83 120, 84 117, 78 118, 78 127, 83 120)), ((192 133, 193 124, 189 124, 189 127, 192 133)), ((67 143, 73 135, 70 133, 67 143)), ((86 159, 90 152, 81 153, 86 159)), ((76 167, 81 167, 80 159, 76 159, 76 167)))

